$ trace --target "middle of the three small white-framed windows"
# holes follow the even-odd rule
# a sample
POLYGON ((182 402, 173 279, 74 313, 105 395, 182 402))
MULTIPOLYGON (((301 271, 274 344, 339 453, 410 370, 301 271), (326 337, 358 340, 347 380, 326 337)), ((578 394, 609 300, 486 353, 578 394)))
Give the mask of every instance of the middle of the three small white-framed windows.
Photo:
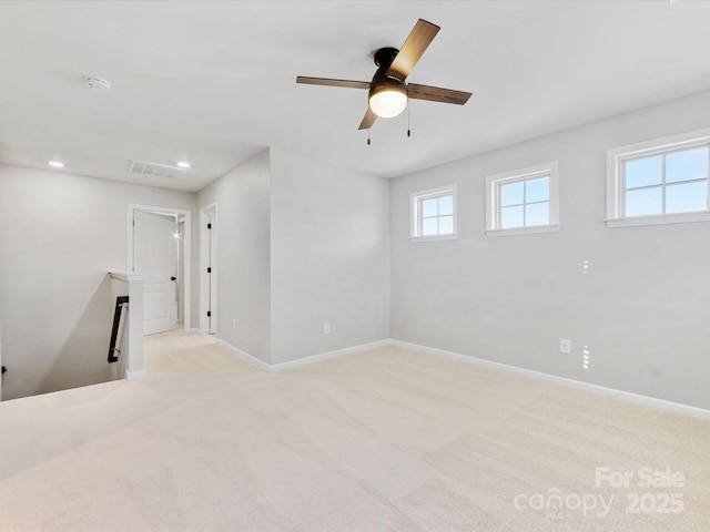
POLYGON ((486 177, 486 234, 559 231, 557 163, 486 177))

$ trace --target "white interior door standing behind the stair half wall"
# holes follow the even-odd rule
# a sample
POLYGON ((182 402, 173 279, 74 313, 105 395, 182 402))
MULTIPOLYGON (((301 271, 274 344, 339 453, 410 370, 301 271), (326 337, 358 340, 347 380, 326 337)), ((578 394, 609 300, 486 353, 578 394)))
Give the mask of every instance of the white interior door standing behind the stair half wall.
POLYGON ((135 211, 133 215, 133 272, 143 283, 143 332, 173 330, 178 320, 175 279, 178 247, 174 216, 135 211))

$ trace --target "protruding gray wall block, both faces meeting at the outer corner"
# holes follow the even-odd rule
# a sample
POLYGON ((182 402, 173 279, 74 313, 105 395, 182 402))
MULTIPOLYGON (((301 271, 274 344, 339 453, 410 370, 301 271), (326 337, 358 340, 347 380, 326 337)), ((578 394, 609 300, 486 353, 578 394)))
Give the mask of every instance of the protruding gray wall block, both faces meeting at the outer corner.
POLYGON ((200 192, 214 202, 221 340, 275 365, 387 338, 386 181, 272 147, 200 192))

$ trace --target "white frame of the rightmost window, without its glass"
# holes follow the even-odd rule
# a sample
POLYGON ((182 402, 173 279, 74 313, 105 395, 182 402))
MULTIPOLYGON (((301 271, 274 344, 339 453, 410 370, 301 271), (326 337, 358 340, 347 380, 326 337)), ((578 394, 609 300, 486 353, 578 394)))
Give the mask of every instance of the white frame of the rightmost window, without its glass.
MULTIPOLYGON (((683 213, 661 213, 639 216, 626 216, 626 180, 623 164, 627 161, 668 155, 693 147, 708 146, 710 150, 710 127, 627 144, 607 150, 607 191, 606 218, 607 227, 633 227, 641 225, 682 224, 690 222, 710 222, 710 208, 688 211, 683 213)), ((665 164, 665 160, 663 160, 665 164)), ((666 168, 663 168, 663 173, 666 168)), ((709 167, 710 173, 710 167, 709 167)), ((708 181, 708 207, 710 207, 710 175, 708 181)), ((666 181, 661 182, 663 187, 666 181)), ((663 206, 665 208, 665 206, 663 206)))

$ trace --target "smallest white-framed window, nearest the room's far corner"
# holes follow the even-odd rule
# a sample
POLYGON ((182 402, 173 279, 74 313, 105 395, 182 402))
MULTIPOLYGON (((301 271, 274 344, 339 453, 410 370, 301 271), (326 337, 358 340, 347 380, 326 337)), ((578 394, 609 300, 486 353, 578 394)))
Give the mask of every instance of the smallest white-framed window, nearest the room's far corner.
POLYGON ((456 185, 413 193, 413 241, 456 238, 456 185))

